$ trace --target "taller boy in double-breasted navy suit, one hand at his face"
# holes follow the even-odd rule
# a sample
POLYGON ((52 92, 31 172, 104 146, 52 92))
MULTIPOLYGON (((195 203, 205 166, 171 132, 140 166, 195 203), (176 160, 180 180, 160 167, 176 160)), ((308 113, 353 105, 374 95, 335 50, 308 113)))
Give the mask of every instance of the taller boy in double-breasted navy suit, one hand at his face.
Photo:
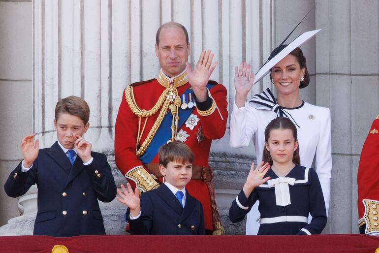
POLYGON ((21 143, 24 159, 4 185, 10 197, 38 187, 34 235, 75 236, 105 234, 97 200, 110 202, 116 185, 105 155, 91 152, 82 135, 88 130, 90 108, 77 96, 58 101, 54 126, 58 141, 39 150, 35 134, 21 143))

